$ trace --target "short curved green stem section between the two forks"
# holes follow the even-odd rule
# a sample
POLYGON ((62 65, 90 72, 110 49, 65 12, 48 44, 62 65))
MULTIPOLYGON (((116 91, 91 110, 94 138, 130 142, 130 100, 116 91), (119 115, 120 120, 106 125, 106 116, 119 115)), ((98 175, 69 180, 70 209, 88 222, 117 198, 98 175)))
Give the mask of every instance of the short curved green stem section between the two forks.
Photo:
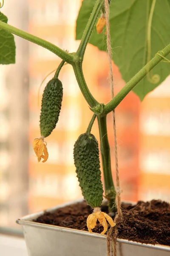
POLYGON ((99 102, 97 102, 96 99, 94 99, 94 97, 92 96, 91 92, 87 87, 87 84, 85 82, 85 78, 82 72, 82 63, 79 63, 79 62, 74 63, 72 64, 72 66, 73 66, 74 73, 75 73, 77 82, 79 84, 80 90, 83 96, 85 97, 85 100, 88 102, 88 105, 91 108, 94 108, 96 105, 99 105, 99 102))

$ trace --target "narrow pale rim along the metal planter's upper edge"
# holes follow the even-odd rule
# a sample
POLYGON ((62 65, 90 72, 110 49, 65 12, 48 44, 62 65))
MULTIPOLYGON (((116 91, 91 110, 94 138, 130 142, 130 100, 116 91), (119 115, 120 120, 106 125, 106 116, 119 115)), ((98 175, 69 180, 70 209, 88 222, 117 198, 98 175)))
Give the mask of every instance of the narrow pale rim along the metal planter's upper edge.
MULTIPOLYGON (((70 201, 68 203, 65 204, 61 204, 55 207, 51 207, 49 209, 40 211, 40 212, 36 212, 30 215, 26 215, 22 218, 17 219, 17 224, 23 225, 23 226, 32 226, 32 227, 37 227, 37 228, 41 228, 41 229, 48 229, 48 230, 55 230, 55 231, 60 231, 60 232, 65 232, 65 233, 71 233, 73 235, 81 235, 81 236, 92 236, 92 237, 96 237, 98 239, 106 239, 106 235, 101 235, 98 233, 89 233, 88 231, 83 231, 83 230, 76 230, 76 229, 72 229, 72 228, 68 228, 68 227, 60 227, 60 226, 55 226, 55 225, 51 225, 51 224, 42 224, 42 223, 38 223, 38 222, 34 222, 33 219, 36 219, 37 217, 39 217, 40 215, 43 215, 45 212, 54 212, 56 209, 59 209, 61 207, 65 207, 68 206, 70 204, 76 204, 79 202, 84 201, 83 199, 79 199, 76 201, 70 201)), ((128 202, 128 203, 132 203, 134 204, 134 202, 128 202)), ((142 244, 139 242, 135 242, 135 241, 128 241, 126 239, 116 239, 118 242, 121 242, 123 244, 133 244, 133 245, 138 245, 138 246, 142 246, 142 247, 154 247, 155 249, 158 248, 159 250, 164 250, 164 251, 170 251, 170 246, 166 246, 166 245, 161 245, 161 244, 142 244)))

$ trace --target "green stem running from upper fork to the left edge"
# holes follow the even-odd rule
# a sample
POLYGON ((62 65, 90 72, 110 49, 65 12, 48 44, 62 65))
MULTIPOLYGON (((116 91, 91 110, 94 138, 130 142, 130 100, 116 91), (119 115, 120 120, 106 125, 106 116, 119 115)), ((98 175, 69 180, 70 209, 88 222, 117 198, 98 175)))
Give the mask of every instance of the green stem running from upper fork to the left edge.
POLYGON ((57 56, 59 56, 59 58, 62 58, 67 63, 71 64, 73 62, 73 55, 69 54, 68 52, 63 51, 62 49, 60 49, 59 47, 57 47, 54 44, 51 44, 48 41, 45 41, 35 35, 31 35, 21 29, 17 29, 14 26, 6 24, 2 21, 0 21, 0 28, 5 29, 6 31, 11 32, 14 35, 18 35, 21 38, 24 38, 34 44, 38 44, 38 45, 48 49, 49 51, 51 51, 54 54, 56 54, 57 56))

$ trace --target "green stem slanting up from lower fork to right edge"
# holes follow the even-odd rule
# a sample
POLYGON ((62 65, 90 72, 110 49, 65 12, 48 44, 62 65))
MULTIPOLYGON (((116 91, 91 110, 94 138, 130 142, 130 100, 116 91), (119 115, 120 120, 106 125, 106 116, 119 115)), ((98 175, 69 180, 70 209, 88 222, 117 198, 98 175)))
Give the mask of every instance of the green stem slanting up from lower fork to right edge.
POLYGON ((122 90, 120 90, 119 93, 117 93, 117 95, 104 106, 103 114, 106 115, 113 111, 113 109, 119 105, 119 103, 136 86, 136 84, 138 84, 142 78, 146 76, 147 72, 152 70, 165 56, 170 53, 170 44, 161 50, 161 52, 163 53, 163 57, 160 55, 155 55, 155 57, 153 57, 152 60, 150 60, 135 76, 133 76, 133 78, 130 79, 130 81, 128 81, 127 84, 122 88, 122 90))

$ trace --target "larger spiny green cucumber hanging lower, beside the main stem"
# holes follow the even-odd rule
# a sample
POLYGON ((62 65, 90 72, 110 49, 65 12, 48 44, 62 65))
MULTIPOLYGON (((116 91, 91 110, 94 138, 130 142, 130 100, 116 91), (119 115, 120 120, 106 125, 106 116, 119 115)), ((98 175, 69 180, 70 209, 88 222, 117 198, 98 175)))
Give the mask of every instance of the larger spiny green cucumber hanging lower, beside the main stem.
POLYGON ((74 144, 74 164, 87 204, 100 207, 103 200, 99 147, 93 134, 81 134, 74 144))

